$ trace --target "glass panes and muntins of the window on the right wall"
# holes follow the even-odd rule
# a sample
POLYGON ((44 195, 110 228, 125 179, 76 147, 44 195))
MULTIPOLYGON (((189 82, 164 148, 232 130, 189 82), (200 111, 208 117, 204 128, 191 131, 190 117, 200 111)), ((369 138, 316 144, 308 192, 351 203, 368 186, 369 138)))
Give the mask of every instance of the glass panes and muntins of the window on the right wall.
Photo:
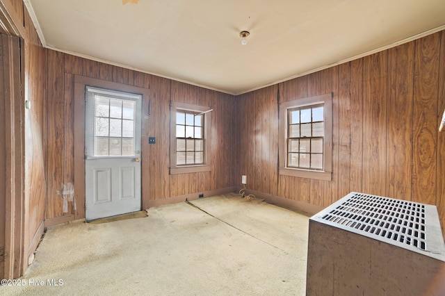
POLYGON ((323 170, 323 104, 287 109, 287 167, 323 170))

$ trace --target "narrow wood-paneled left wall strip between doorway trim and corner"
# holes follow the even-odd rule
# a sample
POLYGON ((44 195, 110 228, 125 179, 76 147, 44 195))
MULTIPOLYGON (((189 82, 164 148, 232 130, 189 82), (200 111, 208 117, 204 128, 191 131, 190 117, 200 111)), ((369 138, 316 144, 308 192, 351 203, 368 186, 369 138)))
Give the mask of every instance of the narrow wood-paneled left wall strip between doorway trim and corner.
MULTIPOLYGON (((24 40, 25 100, 31 108, 25 109, 25 246, 26 261, 33 254, 43 233, 44 211, 47 202, 45 176, 44 121, 47 89, 46 50, 42 47, 28 11, 22 11, 26 39, 24 40)), ((26 262, 27 264, 27 262, 26 262)))

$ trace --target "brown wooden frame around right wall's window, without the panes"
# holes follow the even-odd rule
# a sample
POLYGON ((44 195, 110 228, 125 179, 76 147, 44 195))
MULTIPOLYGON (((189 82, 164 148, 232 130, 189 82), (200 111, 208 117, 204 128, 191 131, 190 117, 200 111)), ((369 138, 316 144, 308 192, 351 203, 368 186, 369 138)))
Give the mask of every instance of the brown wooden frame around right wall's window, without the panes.
POLYGON ((332 92, 313 97, 294 99, 280 104, 279 112, 279 174, 297 176, 307 179, 332 181, 332 92), (304 106, 323 104, 324 119, 324 145, 323 145, 323 170, 310 170, 287 166, 288 156, 288 110, 304 106))

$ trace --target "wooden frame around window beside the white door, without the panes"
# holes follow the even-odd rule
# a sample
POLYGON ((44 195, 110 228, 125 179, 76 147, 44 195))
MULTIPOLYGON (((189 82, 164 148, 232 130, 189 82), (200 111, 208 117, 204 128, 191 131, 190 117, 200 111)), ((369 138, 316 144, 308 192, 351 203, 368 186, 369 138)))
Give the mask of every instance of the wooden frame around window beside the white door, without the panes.
POLYGON ((177 101, 170 102, 170 174, 187 174, 192 172, 210 172, 211 164, 209 157, 209 146, 211 139, 211 112, 204 113, 204 164, 177 165, 177 138, 176 138, 176 113, 178 110, 193 113, 203 113, 211 110, 207 106, 199 106, 177 101))

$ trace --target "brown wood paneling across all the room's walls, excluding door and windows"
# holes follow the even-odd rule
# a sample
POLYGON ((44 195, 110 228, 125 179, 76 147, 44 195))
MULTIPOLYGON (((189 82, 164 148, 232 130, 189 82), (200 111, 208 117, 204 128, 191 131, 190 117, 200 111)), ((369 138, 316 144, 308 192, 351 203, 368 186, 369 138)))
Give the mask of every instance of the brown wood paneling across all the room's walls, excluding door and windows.
POLYGON ((444 229, 445 136, 437 127, 445 108, 445 31, 233 97, 43 49, 22 0, 1 2, 10 21, 2 32, 24 39, 22 89, 31 101, 22 127, 24 181, 15 184, 24 188, 18 201, 24 206, 23 265, 45 219, 81 218, 72 203, 63 213, 60 195, 63 184, 74 183, 74 163, 83 161, 74 158, 76 75, 149 90, 152 114, 143 131, 149 201, 239 186, 247 174, 249 189, 321 207, 350 191, 436 204, 444 229), (280 176, 280 102, 326 92, 333 93, 332 181, 280 176), (170 100, 213 108, 211 172, 169 174, 170 100), (148 145, 147 136, 156 137, 156 145, 148 145))

